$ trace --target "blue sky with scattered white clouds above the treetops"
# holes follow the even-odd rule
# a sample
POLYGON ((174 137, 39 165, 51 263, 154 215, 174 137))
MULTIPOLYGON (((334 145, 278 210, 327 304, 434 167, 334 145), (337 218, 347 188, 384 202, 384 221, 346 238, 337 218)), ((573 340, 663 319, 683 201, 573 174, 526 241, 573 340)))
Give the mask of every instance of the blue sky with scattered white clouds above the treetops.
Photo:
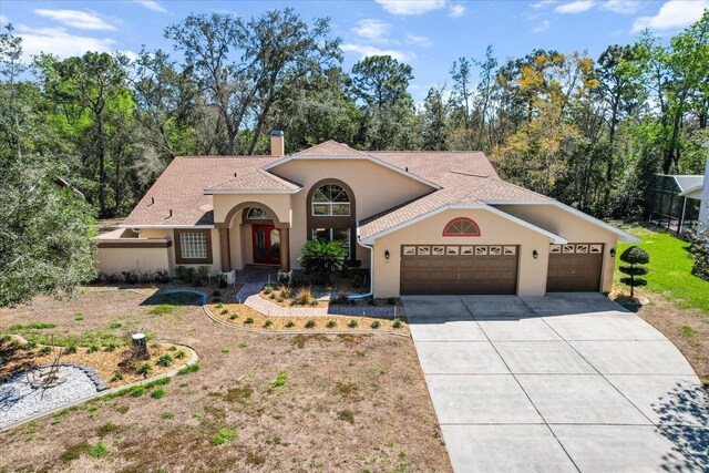
POLYGON ((346 69, 364 55, 391 54, 413 66, 411 93, 420 101, 433 84, 450 83, 460 56, 482 58, 487 44, 504 60, 535 48, 587 50, 592 58, 613 43, 630 43, 649 28, 669 37, 701 17, 709 0, 332 0, 332 1, 28 1, 3 0, 28 56, 86 50, 136 52, 171 45, 168 24, 191 12, 229 11, 243 17, 294 7, 302 18, 331 18, 342 38, 346 69))

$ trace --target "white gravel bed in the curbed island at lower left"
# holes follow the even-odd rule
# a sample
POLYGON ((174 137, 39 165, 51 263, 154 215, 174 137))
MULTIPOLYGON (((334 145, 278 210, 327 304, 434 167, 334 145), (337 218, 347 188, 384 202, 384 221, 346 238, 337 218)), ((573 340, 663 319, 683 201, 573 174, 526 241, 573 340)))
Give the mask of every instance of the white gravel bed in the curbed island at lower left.
POLYGON ((66 381, 48 389, 32 389, 27 376, 30 372, 14 374, 0 384, 0 429, 97 392, 96 385, 80 368, 59 367, 59 376, 66 381))

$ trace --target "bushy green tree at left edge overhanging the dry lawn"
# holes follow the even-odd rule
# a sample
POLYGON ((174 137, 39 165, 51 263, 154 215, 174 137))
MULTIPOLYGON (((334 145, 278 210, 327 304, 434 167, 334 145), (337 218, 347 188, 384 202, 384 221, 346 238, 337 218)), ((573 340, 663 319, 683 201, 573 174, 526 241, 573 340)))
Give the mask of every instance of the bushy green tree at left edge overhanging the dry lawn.
POLYGON ((37 88, 16 83, 22 54, 12 29, 0 34, 3 140, 0 142, 0 307, 38 294, 61 296, 95 276, 90 206, 66 186, 69 166, 42 122, 37 88))

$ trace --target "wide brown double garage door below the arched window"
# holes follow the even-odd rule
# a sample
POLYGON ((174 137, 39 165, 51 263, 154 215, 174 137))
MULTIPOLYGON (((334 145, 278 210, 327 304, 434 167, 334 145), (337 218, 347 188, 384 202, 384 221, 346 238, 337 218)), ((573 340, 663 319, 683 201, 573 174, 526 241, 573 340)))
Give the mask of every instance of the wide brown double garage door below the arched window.
POLYGON ((516 294, 517 246, 403 245, 401 294, 516 294))

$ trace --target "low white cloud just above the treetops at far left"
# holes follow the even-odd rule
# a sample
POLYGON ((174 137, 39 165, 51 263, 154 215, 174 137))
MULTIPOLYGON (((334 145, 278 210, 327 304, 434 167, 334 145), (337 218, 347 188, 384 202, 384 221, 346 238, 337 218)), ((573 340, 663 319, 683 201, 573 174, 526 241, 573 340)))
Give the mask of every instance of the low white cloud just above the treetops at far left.
POLYGON ((33 54, 47 52, 60 58, 82 55, 86 51, 111 52, 115 50, 116 42, 110 38, 91 38, 74 35, 64 28, 38 28, 32 29, 20 24, 17 29, 22 38, 22 50, 25 59, 33 54))

